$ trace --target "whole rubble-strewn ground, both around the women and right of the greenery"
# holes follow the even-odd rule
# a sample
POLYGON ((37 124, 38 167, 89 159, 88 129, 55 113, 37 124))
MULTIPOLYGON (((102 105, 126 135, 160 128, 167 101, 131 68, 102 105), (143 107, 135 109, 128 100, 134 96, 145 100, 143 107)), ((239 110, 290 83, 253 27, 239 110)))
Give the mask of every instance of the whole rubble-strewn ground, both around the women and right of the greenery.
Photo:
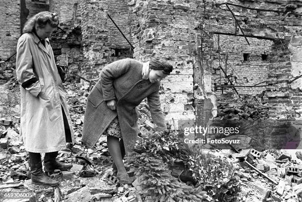
MULTIPOLYGON (((16 201, 16 199, 5 198, 2 193, 19 192, 34 194, 34 197, 30 199, 19 199, 20 202, 35 200, 39 202, 141 201, 137 185, 113 184, 106 178, 112 171, 112 159, 108 152, 106 137, 102 136, 93 149, 87 149, 81 145, 83 116, 89 86, 77 83, 65 83, 64 85, 76 144, 72 150, 66 149, 59 152, 58 160, 72 163, 74 167, 70 171, 58 171, 51 175, 61 182, 60 186, 56 188, 31 184, 31 179, 28 178, 28 155, 18 134, 20 124, 19 85, 15 79, 0 85, 0 199, 6 202, 16 201), (94 170, 93 176, 80 176, 79 170, 83 166, 87 170, 94 170)), ((229 106, 225 105, 224 113, 232 111, 229 106)), ((247 108, 245 107, 245 109, 247 108)), ((155 126, 151 123, 150 112, 145 102, 139 106, 139 110, 140 135, 144 136, 155 126)), ((265 117, 265 112, 251 114, 251 116, 265 117)), ((247 115, 239 114, 237 116, 246 118, 247 115)), ((208 149, 204 152, 225 158, 238 170, 241 191, 238 193, 236 201, 302 201, 302 151, 247 149, 241 150, 238 154, 229 149, 208 149), (251 168, 248 164, 253 165, 256 169, 251 168)), ((134 173, 133 170, 132 173, 134 173)), ((190 184, 190 186, 194 185, 190 184)))

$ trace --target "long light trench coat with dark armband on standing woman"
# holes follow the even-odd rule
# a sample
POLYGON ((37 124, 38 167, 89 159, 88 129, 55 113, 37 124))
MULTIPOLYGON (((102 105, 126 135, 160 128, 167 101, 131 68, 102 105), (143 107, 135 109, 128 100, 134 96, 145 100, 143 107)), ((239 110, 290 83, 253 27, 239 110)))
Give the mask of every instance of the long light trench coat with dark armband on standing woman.
POLYGON ((16 73, 21 91, 20 135, 29 152, 46 153, 66 148, 62 115, 64 108, 72 141, 75 142, 66 96, 49 40, 45 47, 32 33, 23 34, 17 44, 16 73), (29 79, 38 81, 26 89, 29 79))

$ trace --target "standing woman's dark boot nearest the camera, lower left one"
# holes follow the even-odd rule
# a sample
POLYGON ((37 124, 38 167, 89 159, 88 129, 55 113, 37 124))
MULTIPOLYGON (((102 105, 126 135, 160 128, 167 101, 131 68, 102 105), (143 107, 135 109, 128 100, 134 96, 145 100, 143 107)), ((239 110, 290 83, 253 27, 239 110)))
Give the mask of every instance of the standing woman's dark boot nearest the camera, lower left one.
POLYGON ((38 184, 43 186, 57 186, 60 183, 56 180, 46 176, 42 169, 41 155, 40 153, 29 152, 30 167, 32 175, 32 184, 38 184))

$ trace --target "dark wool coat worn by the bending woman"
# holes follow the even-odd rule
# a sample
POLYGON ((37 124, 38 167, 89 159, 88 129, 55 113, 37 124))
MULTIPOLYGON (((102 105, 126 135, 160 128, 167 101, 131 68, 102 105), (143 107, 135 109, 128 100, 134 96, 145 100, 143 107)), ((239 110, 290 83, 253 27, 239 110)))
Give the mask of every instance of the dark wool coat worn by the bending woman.
POLYGON ((117 116, 126 152, 133 149, 138 135, 138 106, 148 99, 157 130, 165 130, 165 120, 159 101, 160 82, 142 79, 143 63, 122 59, 104 67, 101 78, 88 96, 83 123, 82 142, 93 147, 117 116), (116 110, 106 101, 116 100, 116 110))

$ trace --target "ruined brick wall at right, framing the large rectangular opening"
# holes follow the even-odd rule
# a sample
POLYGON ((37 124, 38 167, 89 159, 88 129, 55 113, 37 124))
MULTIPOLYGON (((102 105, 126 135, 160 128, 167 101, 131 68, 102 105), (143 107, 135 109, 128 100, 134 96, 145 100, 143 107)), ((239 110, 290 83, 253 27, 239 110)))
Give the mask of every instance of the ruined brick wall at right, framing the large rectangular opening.
MULTIPOLYGON (((268 63, 265 64, 267 78, 264 78, 266 81, 264 84, 267 86, 264 89, 264 102, 268 103, 271 119, 279 120, 280 123, 284 122, 285 125, 293 125, 297 129, 300 128, 299 133, 301 133, 302 91, 299 85, 302 81, 297 80, 296 83, 291 83, 291 80, 295 76, 301 75, 298 70, 301 69, 301 63, 298 59, 301 50, 298 47, 301 45, 299 37, 302 26, 302 2, 291 0, 264 0, 262 2, 232 0, 228 2, 239 6, 267 9, 251 10, 228 5, 250 43, 255 38, 272 42, 267 58, 268 63)), ((203 68, 207 72, 206 74, 211 70, 213 71, 219 57, 218 51, 211 48, 212 34, 234 35, 236 33, 243 36, 238 26, 235 25, 235 20, 227 6, 215 5, 216 3, 216 1, 207 1, 204 4, 203 21, 199 26, 200 30, 203 30, 201 36, 209 40, 202 44, 204 47, 209 47, 203 57, 204 64, 207 64, 203 68)), ((238 57, 241 57, 241 54, 239 52, 238 57)), ((256 63, 261 65, 262 61, 256 63)), ((214 77, 210 79, 212 83, 214 83, 212 80, 214 77)), ((239 89, 237 88, 237 90, 239 89)), ((232 93, 235 94, 235 92, 232 93)), ((285 135, 282 130, 284 131, 284 129, 276 129, 275 135, 285 135)))

